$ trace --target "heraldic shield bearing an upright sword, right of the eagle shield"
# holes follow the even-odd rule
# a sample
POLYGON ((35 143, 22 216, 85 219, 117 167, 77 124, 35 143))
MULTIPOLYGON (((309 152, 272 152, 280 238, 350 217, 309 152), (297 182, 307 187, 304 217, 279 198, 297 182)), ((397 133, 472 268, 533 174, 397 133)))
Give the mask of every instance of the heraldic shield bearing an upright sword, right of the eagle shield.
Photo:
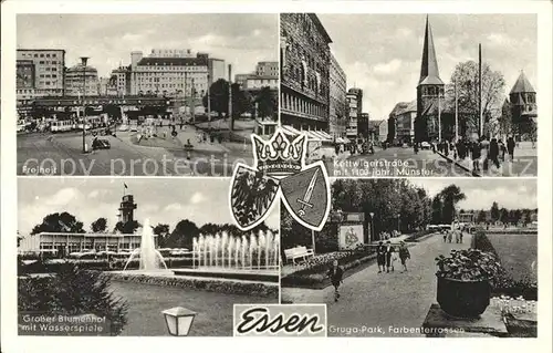
POLYGON ((281 180, 282 200, 294 219, 320 231, 328 211, 330 184, 322 162, 281 180))

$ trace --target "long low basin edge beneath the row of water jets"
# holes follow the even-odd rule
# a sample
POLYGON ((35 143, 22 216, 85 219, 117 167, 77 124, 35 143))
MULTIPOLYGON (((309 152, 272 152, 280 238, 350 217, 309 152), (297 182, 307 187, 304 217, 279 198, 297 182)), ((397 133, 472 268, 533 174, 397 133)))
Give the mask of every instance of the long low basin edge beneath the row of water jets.
POLYGON ((246 281, 261 281, 279 283, 280 271, 265 269, 233 269, 219 267, 200 267, 195 269, 174 269, 176 276, 189 276, 199 278, 225 278, 246 281))

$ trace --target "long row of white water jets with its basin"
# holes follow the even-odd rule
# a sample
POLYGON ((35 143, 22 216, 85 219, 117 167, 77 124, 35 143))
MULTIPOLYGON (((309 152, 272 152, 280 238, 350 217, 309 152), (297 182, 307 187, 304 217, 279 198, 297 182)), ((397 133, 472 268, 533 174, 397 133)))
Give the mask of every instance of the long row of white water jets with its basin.
POLYGON ((192 239, 192 266, 175 274, 241 280, 279 280, 279 240, 271 231, 232 236, 200 235, 192 239))

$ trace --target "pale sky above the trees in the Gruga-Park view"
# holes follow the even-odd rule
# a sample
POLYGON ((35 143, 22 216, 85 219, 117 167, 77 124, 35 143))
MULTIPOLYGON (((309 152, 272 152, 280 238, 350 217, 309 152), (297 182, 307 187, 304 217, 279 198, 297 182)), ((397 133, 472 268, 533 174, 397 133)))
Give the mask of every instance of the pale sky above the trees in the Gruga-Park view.
POLYGON ((499 208, 538 208, 536 179, 408 179, 411 184, 426 189, 431 197, 451 184, 457 185, 466 195, 466 199, 459 203, 459 208, 461 209, 490 209, 493 201, 498 203, 499 208))

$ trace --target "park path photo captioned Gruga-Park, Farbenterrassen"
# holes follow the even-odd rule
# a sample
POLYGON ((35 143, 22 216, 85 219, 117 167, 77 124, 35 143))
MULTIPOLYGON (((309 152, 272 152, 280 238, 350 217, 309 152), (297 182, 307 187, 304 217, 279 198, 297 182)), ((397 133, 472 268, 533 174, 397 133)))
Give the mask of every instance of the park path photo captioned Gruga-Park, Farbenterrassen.
POLYGON ((321 231, 281 207, 282 303, 330 336, 535 338, 535 179, 332 179, 321 231))

